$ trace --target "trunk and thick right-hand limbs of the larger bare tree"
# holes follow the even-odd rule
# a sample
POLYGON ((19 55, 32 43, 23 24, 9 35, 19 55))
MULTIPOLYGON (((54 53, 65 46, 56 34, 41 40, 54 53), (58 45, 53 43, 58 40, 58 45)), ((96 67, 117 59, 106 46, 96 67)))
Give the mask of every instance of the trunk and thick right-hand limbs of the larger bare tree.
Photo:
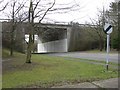
MULTIPOLYGON (((41 12, 41 10, 38 11, 36 15, 34 15, 34 14, 35 14, 35 11, 36 11, 37 7, 39 6, 40 1, 41 0, 37 1, 34 8, 33 8, 32 0, 30 1, 30 7, 29 7, 29 29, 30 30, 29 30, 29 42, 28 42, 28 47, 27 47, 26 63, 31 63, 31 52, 32 52, 32 49, 33 49, 33 44, 34 44, 34 19, 36 17, 40 17, 39 13, 41 12)), ((47 8, 47 10, 44 12, 42 17, 39 19, 39 23, 41 23, 41 21, 44 19, 44 17, 48 13, 48 11, 50 11, 50 9, 54 5, 55 5, 55 0, 51 4, 51 6, 49 8, 47 8)))

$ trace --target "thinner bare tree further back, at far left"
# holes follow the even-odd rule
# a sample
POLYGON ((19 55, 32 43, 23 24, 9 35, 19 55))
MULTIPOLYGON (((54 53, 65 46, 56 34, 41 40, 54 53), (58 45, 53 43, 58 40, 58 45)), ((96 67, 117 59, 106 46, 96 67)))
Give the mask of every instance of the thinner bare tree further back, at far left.
MULTIPOLYGON (((10 56, 13 56, 13 49, 14 49, 14 41, 15 41, 15 30, 17 27, 17 23, 21 21, 20 19, 20 11, 24 8, 26 1, 23 0, 21 3, 18 0, 11 0, 8 3, 9 12, 3 12, 10 20, 10 56)), ((5 8, 5 7, 4 7, 5 8)), ((21 17, 22 18, 22 17, 21 17)))

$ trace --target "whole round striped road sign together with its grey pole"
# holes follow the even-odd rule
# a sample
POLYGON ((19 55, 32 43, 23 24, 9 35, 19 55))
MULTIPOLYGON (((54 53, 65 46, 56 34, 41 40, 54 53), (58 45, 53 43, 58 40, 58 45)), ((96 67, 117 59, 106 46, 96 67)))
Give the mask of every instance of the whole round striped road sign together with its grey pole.
POLYGON ((108 71, 109 65, 109 51, 110 51, 110 33, 112 33, 112 26, 108 23, 105 23, 104 32, 107 34, 107 55, 106 55, 106 70, 108 71))

